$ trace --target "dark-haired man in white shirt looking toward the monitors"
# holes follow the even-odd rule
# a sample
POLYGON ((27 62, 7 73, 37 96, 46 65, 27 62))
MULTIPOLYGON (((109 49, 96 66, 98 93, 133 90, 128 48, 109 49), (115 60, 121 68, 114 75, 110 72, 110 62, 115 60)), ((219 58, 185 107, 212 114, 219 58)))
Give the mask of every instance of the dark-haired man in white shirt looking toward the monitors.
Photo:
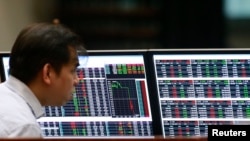
POLYGON ((80 38, 55 23, 36 23, 18 35, 10 54, 8 79, 0 84, 0 137, 40 138, 42 106, 61 106, 78 83, 80 38))

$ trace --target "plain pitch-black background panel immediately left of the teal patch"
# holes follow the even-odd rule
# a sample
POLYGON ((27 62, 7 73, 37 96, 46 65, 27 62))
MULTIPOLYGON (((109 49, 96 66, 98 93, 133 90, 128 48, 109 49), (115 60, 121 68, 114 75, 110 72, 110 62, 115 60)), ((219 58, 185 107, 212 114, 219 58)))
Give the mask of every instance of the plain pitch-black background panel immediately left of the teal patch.
POLYGON ((222 0, 170 0, 164 5, 163 47, 226 47, 222 0))

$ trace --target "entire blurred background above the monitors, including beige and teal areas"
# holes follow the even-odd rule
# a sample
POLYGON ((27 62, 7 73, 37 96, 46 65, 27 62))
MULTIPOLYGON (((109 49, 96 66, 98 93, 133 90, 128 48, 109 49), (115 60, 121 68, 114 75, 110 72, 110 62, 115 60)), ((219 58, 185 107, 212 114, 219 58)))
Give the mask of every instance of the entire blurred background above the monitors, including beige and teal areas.
POLYGON ((53 18, 79 33, 88 49, 250 45, 249 0, 8 0, 0 9, 0 51, 11 49, 25 25, 53 18), (235 10, 238 17, 228 16, 235 10))

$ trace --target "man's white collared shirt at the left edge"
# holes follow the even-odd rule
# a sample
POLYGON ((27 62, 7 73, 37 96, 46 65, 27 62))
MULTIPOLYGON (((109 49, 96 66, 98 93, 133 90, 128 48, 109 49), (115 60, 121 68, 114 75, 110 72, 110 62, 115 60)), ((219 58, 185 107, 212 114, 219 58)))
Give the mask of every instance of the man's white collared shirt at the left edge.
POLYGON ((0 84, 0 137, 41 138, 37 118, 44 114, 32 91, 9 76, 0 84))

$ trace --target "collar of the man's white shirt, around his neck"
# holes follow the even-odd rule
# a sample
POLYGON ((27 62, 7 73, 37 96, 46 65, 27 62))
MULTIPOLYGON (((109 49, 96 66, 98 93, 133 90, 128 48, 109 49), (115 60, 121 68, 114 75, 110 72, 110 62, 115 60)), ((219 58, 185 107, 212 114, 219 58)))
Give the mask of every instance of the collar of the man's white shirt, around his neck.
POLYGON ((6 84, 7 87, 9 87, 12 91, 21 96, 26 101, 36 118, 44 115, 42 105, 27 85, 11 75, 8 77, 6 84))

